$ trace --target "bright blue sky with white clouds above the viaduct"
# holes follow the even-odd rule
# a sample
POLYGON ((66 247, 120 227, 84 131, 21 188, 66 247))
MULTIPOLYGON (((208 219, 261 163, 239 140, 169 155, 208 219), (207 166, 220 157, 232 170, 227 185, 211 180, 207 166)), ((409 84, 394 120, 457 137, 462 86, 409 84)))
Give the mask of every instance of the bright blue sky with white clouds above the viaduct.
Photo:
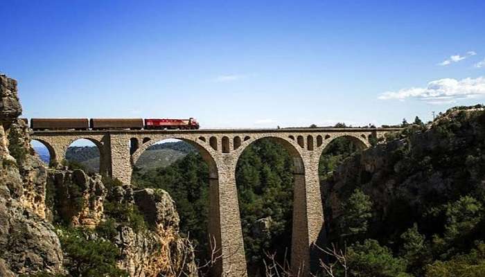
POLYGON ((484 102, 485 1, 390 2, 2 0, 0 71, 28 118, 381 125, 484 102))

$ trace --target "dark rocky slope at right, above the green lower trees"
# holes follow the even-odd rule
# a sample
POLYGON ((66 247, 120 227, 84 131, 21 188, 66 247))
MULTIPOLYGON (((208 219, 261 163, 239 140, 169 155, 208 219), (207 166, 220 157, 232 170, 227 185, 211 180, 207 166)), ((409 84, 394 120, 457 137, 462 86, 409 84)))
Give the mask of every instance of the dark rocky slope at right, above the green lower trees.
POLYGON ((373 202, 369 236, 398 241, 413 222, 431 236, 446 221, 436 220, 439 207, 463 195, 481 197, 484 149, 485 111, 460 107, 353 155, 321 182, 330 236, 338 233, 342 203, 355 188, 373 202))

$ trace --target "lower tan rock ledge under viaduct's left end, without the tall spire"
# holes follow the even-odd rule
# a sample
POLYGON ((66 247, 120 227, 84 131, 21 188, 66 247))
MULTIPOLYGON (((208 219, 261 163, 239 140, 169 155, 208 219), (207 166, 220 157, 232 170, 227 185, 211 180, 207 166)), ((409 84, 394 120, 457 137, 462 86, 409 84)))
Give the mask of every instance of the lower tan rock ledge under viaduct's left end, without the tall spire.
MULTIPOLYGON (((109 181, 82 170, 49 170, 48 188, 53 194, 53 221, 80 230, 94 230, 107 220, 114 221, 112 238, 121 251, 118 268, 132 277, 196 276, 191 243, 179 234, 179 215, 164 190, 133 190, 132 186, 109 181), (105 205, 109 206, 105 211, 105 205), (139 213, 146 226, 133 226, 129 213, 139 213)), ((86 237, 92 236, 86 232, 86 237)), ((95 233, 94 238, 98 238, 95 233)), ((68 257, 69 259, 69 257, 68 257)), ((68 267, 69 269, 69 267, 68 267)))

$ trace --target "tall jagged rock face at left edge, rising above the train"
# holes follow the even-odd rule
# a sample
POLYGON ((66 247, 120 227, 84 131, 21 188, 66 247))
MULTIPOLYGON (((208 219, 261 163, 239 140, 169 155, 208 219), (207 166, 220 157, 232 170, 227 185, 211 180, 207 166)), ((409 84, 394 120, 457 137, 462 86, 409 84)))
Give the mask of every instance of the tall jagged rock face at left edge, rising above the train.
POLYGON ((0 276, 62 274, 62 249, 45 220, 46 168, 30 148, 17 82, 0 75, 0 276))

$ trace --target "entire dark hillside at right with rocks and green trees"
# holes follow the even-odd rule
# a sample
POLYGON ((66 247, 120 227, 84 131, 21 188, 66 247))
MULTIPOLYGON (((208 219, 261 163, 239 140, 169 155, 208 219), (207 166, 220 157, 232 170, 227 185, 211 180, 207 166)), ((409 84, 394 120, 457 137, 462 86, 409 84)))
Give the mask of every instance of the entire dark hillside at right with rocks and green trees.
POLYGON ((459 107, 344 161, 322 195, 347 274, 484 276, 484 152, 483 107, 459 107))

